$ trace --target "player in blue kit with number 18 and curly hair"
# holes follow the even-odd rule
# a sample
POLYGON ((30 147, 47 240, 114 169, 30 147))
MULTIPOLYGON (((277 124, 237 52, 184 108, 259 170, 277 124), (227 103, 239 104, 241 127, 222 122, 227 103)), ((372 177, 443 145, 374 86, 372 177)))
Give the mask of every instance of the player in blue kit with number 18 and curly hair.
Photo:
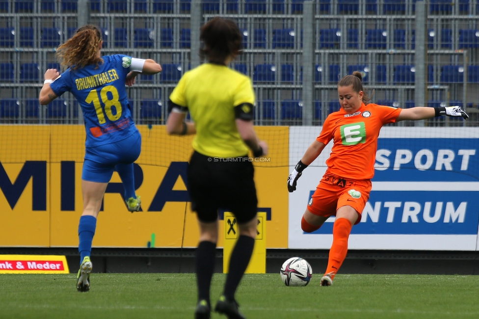
POLYGON ((161 71, 160 64, 151 59, 122 54, 101 56, 102 43, 98 27, 80 27, 57 50, 67 70, 61 75, 55 69, 47 70, 39 97, 40 104, 46 105, 69 91, 78 100, 85 120, 83 213, 78 226, 81 264, 77 290, 80 292, 90 289, 91 244, 113 170, 123 182, 128 210, 133 213, 140 209, 141 200, 134 190, 133 161, 140 155, 141 135, 133 122, 125 84, 133 85, 138 73, 152 75, 161 71))

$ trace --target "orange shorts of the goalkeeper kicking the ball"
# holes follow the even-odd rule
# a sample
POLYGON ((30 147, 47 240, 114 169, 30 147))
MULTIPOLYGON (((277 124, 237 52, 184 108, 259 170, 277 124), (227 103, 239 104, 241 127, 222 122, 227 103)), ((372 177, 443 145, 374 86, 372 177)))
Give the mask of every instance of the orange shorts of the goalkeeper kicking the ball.
POLYGON ((326 172, 316 191, 308 203, 308 211, 323 217, 336 216, 336 211, 343 206, 351 206, 358 212, 359 218, 354 225, 361 221, 361 213, 366 206, 371 192, 371 180, 348 180, 326 172))

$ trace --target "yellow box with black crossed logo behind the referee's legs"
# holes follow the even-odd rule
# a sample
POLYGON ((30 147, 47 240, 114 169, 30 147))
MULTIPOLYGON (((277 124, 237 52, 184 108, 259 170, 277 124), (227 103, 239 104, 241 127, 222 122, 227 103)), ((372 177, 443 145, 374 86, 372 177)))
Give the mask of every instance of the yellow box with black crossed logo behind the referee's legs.
MULTIPOLYGON (((233 213, 224 213, 223 273, 228 273, 231 252, 239 238, 238 222, 233 213)), ((253 255, 245 273, 266 273, 266 213, 258 213, 258 232, 253 255)))

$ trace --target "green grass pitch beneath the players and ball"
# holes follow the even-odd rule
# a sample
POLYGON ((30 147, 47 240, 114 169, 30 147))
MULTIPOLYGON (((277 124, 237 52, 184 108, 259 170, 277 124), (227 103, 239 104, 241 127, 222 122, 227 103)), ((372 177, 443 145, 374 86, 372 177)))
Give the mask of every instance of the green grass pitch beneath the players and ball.
MULTIPOLYGON (((193 318, 194 274, 92 273, 86 293, 77 292, 75 279, 0 274, 0 318, 193 318)), ((213 305, 224 279, 213 276, 213 305)), ((248 319, 479 318, 479 276, 339 274, 331 287, 319 279, 286 287, 279 273, 246 274, 237 292, 240 310, 248 319)))

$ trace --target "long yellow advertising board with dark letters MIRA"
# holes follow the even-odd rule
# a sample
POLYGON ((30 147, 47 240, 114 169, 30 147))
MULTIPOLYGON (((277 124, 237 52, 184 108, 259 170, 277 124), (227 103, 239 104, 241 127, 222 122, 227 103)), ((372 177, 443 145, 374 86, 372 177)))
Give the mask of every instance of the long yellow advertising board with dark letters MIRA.
MULTIPOLYGON (((193 136, 167 135, 164 126, 138 129, 142 150, 134 174, 142 211, 127 210, 115 172, 93 246, 147 247, 154 237, 155 247, 196 247, 199 231, 186 179, 193 136)), ((266 245, 287 248, 288 192, 281 186, 288 176, 289 128, 256 130, 270 147, 269 158, 252 159, 259 206, 270 211, 266 245)), ((0 126, 0 137, 0 246, 77 246, 84 127, 5 125, 0 126)), ((220 239, 218 246, 222 245, 220 239)))

